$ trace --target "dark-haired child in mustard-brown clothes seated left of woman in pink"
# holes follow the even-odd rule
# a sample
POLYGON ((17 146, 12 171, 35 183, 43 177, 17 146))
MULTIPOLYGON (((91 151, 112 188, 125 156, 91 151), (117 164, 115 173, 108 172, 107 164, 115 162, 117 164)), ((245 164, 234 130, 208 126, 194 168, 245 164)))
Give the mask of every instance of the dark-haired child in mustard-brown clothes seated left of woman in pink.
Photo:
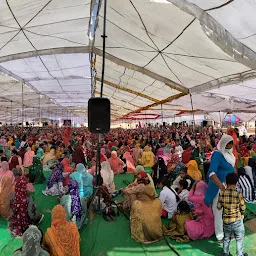
POLYGON ((173 215, 168 230, 165 232, 176 242, 188 242, 189 237, 185 229, 185 222, 192 220, 192 214, 187 202, 181 201, 178 204, 177 212, 173 215))

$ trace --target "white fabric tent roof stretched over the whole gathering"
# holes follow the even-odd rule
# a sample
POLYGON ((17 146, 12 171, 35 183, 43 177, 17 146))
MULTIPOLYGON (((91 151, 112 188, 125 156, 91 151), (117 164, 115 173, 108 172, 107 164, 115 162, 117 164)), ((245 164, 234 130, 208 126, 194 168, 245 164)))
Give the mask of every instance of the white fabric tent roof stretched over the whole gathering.
MULTIPOLYGON (((12 104, 28 119, 40 98, 45 117, 87 116, 91 93, 101 89, 103 6, 102 0, 0 5, 0 71, 9 75, 0 77, 0 111, 12 104)), ((255 9, 249 0, 108 1, 103 96, 111 100, 112 119, 184 110, 252 116, 255 9)))

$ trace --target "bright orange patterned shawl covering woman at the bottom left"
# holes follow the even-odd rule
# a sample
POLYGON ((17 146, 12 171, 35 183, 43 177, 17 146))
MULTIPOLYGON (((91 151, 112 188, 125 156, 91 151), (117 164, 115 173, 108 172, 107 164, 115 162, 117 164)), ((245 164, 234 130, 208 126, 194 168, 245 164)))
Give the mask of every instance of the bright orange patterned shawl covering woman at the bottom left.
POLYGON ((66 211, 61 205, 56 205, 52 209, 51 228, 56 237, 56 243, 61 248, 64 255, 80 255, 80 237, 75 223, 66 220, 66 211))

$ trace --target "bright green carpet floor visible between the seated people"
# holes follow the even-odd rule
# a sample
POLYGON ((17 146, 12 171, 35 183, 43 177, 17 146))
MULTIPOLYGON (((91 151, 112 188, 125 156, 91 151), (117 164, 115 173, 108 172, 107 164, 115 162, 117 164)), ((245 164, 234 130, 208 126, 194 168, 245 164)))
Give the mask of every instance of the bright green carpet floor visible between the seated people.
MULTIPOLYGON (((123 180, 131 181, 132 175, 119 175, 115 177, 117 188, 124 187, 123 180)), ((55 197, 46 197, 41 191, 44 185, 36 185, 35 203, 38 211, 45 215, 40 224, 40 228, 45 230, 50 226, 51 209, 57 204, 55 197)), ((167 224, 167 222, 165 222, 167 224)), ((246 230, 245 251, 251 256, 256 255, 256 234, 246 230)), ((220 254, 222 245, 217 244, 215 238, 179 244, 167 238, 158 243, 144 245, 131 239, 129 221, 123 216, 119 216, 116 222, 106 222, 102 216, 95 215, 81 232, 81 255, 82 256, 203 256, 220 254), (173 248, 177 254, 172 251, 173 248)), ((7 222, 0 218, 0 256, 11 256, 20 248, 22 241, 20 238, 11 238, 7 230, 7 222)), ((235 256, 235 241, 231 244, 231 255, 235 256)))

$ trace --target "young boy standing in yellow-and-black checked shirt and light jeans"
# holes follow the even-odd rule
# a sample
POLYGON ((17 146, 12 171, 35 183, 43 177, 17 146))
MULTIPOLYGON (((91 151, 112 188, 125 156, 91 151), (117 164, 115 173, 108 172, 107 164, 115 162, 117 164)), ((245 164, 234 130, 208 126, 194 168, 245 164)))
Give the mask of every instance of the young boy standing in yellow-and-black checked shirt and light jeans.
POLYGON ((223 208, 223 252, 222 256, 229 255, 231 236, 234 233, 236 239, 237 256, 248 256, 244 253, 244 211, 245 202, 241 193, 236 191, 238 176, 236 173, 229 173, 226 177, 227 188, 220 192, 217 208, 223 208))

